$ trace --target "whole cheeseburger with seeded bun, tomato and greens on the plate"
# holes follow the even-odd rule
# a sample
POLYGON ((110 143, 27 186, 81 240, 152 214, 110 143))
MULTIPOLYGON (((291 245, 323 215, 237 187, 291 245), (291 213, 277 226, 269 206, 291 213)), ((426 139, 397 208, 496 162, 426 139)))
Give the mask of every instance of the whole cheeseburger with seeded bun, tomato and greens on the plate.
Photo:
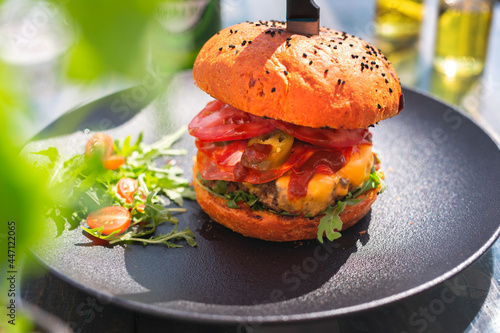
POLYGON ((333 240, 370 210, 383 173, 369 128, 403 95, 380 50, 345 32, 259 21, 221 30, 193 66, 215 100, 189 124, 201 208, 245 236, 333 240))

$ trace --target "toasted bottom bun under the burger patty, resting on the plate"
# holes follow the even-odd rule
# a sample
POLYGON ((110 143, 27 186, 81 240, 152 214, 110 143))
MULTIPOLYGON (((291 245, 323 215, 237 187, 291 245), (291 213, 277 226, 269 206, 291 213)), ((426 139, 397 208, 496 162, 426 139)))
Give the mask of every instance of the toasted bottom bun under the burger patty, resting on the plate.
MULTIPOLYGON (((193 177, 196 179, 197 175, 195 163, 193 177)), ((255 211, 243 203, 239 205, 240 209, 229 208, 225 199, 206 191, 196 180, 194 189, 199 205, 214 221, 248 237, 274 242, 314 239, 317 237, 319 222, 324 216, 306 218, 280 215, 266 210, 255 211)), ((353 226, 368 213, 379 191, 380 188, 374 188, 361 195, 359 199, 363 201, 357 205, 345 207, 340 214, 342 230, 353 226)))

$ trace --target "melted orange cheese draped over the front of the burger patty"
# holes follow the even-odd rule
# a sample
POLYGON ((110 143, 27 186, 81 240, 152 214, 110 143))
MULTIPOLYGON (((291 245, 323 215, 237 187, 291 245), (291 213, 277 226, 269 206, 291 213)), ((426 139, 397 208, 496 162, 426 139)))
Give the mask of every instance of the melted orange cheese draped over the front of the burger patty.
POLYGON ((349 162, 336 174, 315 174, 307 186, 306 196, 295 200, 288 198, 290 174, 286 173, 276 180, 278 207, 287 212, 315 216, 324 211, 334 198, 343 197, 349 189, 361 186, 368 179, 372 166, 372 146, 360 146, 359 151, 354 151, 349 162))

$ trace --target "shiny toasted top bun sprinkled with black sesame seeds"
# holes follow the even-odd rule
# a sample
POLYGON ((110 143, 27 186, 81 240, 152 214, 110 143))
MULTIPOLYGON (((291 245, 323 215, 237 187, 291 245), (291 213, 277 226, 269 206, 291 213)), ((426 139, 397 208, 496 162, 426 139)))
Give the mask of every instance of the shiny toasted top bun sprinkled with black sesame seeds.
POLYGON ((284 23, 241 23, 201 49, 196 84, 243 111, 298 125, 366 128, 402 109, 399 79, 379 50, 344 32, 304 36, 284 23))

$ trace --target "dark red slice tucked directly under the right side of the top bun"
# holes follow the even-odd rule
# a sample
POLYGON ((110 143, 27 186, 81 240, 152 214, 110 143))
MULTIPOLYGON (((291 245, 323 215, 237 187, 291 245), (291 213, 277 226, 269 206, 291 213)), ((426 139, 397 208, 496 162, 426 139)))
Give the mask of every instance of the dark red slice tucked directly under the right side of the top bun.
POLYGON ((323 148, 346 148, 371 143, 371 133, 359 129, 323 129, 290 124, 281 120, 270 120, 276 128, 294 138, 323 148))

